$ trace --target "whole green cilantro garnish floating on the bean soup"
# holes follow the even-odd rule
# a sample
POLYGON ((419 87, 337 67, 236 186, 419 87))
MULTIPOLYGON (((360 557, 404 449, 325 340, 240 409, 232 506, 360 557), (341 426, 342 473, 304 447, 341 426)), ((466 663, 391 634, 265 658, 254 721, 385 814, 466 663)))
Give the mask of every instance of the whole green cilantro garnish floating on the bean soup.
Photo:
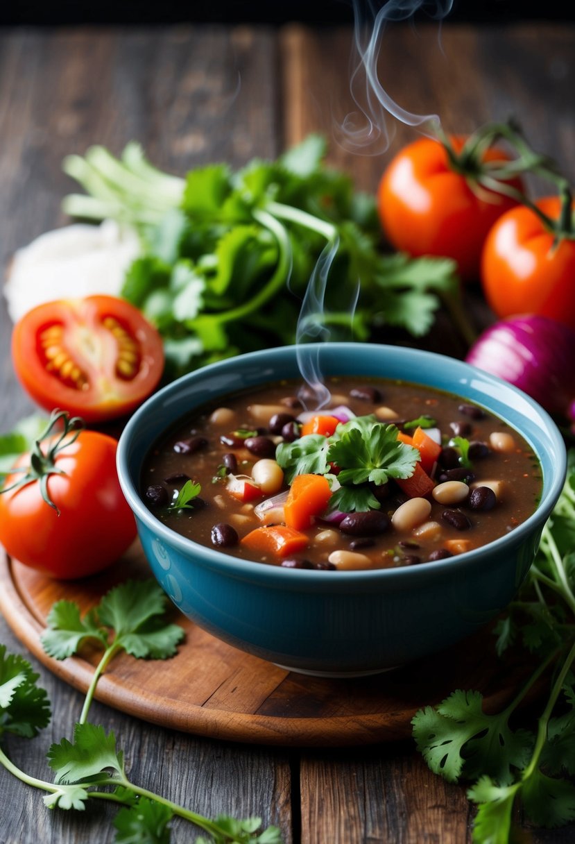
POLYGON ((397 438, 395 425, 385 425, 372 414, 337 425, 332 436, 308 434, 277 446, 277 463, 288 484, 298 474, 324 474, 338 488, 330 509, 344 512, 377 510, 381 506, 369 484, 380 486, 390 478, 409 478, 420 452, 397 438))

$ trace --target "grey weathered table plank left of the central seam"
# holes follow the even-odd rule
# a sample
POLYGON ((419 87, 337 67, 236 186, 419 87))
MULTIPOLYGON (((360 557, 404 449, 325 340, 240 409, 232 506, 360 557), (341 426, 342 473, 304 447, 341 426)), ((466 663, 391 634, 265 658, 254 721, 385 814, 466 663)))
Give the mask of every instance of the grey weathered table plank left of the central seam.
MULTIPOLYGON (((104 143, 118 153, 139 140, 160 167, 183 174, 211 160, 245 163, 277 154, 276 36, 269 30, 179 27, 137 30, 3 30, 0 34, 0 262, 43 231, 64 225, 62 197, 74 189, 61 161, 104 143)), ((0 304, 0 430, 32 410, 13 375, 10 322, 0 304)), ((25 652, 0 616, 0 641, 25 652)), ((53 705, 49 728, 35 741, 8 740, 26 771, 48 775, 45 753, 71 735, 82 695, 34 657, 53 705)), ((94 703, 94 722, 113 729, 135 782, 213 816, 261 815, 291 844, 290 765, 282 750, 224 744, 142 723, 94 703)), ((0 769, 3 844, 114 839, 116 809, 49 812, 40 793, 0 769)), ((191 828, 174 823, 175 840, 191 828)), ((195 836, 194 836, 195 837, 195 836)))

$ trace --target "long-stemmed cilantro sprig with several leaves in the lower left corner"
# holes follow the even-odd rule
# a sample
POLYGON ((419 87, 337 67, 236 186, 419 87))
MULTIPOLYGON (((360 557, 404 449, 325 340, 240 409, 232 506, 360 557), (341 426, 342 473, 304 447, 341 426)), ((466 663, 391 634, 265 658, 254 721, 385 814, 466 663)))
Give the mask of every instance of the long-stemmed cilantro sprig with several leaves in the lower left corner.
MULTIPOLYGON (((49 809, 85 808, 89 800, 121 804, 116 814, 116 844, 150 841, 169 844, 174 817, 190 821, 208 837, 204 844, 281 844, 275 826, 261 829, 260 818, 235 820, 221 815, 211 820, 168 798, 131 782, 126 775, 125 755, 114 733, 87 720, 90 701, 99 676, 120 651, 138 659, 167 659, 176 653, 184 636, 179 625, 164 618, 167 598, 153 580, 128 581, 108 592, 83 616, 78 604, 58 601, 51 609, 48 627, 41 637, 46 652, 56 659, 77 653, 90 641, 104 652, 73 727, 73 740, 62 738, 48 750, 54 781, 21 771, 0 746, 0 764, 22 782, 45 792, 49 809)), ((46 691, 36 685, 38 674, 23 657, 7 654, 0 645, 0 744, 5 733, 33 738, 50 721, 46 691)))

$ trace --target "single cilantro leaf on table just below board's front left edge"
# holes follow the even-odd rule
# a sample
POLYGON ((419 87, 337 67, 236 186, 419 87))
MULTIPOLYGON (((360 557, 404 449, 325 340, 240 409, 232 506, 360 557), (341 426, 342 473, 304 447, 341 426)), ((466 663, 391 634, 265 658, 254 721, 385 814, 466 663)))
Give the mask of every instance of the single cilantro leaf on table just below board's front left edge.
POLYGON ((56 773, 56 783, 105 782, 109 769, 124 775, 124 756, 116 752, 114 733, 105 734, 104 728, 91 723, 74 726, 74 740, 62 738, 48 750, 48 764, 56 773))

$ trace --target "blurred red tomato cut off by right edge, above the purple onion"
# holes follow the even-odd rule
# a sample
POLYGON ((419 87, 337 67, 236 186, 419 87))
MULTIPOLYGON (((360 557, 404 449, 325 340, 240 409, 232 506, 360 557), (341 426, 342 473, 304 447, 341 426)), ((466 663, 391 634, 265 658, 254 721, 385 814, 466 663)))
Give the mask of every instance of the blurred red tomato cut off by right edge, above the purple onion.
MULTIPOLYGON (((560 197, 536 203, 559 219, 560 197)), ((481 257, 481 284, 497 317, 532 313, 575 329, 575 241, 545 230, 535 212, 519 205, 504 214, 486 239, 481 257)))

